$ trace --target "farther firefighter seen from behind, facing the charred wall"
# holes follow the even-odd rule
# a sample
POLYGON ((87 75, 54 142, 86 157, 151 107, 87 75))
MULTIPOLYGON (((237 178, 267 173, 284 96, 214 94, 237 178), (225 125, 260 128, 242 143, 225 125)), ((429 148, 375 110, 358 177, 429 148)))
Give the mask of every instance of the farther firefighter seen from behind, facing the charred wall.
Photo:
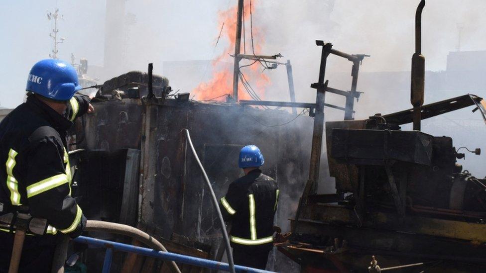
POLYGON ((264 163, 255 145, 243 147, 238 166, 244 176, 232 182, 221 198, 223 217, 230 231, 236 265, 265 269, 273 248, 273 217, 278 202, 278 185, 259 169, 264 163))

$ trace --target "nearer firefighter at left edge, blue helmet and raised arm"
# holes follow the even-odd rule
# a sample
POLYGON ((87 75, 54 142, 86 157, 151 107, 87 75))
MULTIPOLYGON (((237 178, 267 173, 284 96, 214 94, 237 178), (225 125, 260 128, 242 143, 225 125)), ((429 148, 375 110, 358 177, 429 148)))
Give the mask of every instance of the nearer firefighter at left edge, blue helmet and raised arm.
MULTIPOLYGON (((79 91, 69 63, 36 63, 27 79, 26 102, 0 123, 0 272, 10 263, 16 221, 27 215, 29 228, 20 272, 50 272, 60 234, 79 236, 86 218, 71 197, 67 130, 94 108, 79 91)), ((18 223, 18 222, 17 222, 18 223)))

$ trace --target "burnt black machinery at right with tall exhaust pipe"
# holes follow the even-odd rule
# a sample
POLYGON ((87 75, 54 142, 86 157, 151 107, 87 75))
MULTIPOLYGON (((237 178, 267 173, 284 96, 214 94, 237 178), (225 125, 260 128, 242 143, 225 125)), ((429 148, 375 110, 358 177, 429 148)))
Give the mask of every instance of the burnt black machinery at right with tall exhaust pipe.
POLYGON ((422 119, 470 106, 486 122, 486 103, 466 94, 423 105, 424 5, 422 0, 416 13, 413 108, 326 122, 336 193, 317 194, 310 179, 291 220, 290 242, 279 245, 302 272, 486 270, 486 179, 456 163, 465 155, 452 138, 420 131, 422 119), (401 130, 412 122, 412 131, 401 130))

